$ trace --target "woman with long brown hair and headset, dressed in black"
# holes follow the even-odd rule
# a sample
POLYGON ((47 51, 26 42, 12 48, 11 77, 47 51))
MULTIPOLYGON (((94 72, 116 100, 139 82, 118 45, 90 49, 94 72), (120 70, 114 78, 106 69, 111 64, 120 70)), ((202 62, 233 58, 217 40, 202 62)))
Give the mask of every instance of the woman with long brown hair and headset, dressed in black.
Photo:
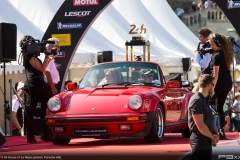
POLYGON ((220 122, 219 137, 226 139, 224 133, 225 114, 223 106, 229 91, 232 88, 230 66, 233 63, 234 53, 230 41, 222 34, 209 36, 211 48, 215 51, 212 55, 211 69, 214 79, 214 91, 211 94, 212 101, 217 99, 217 111, 220 122))

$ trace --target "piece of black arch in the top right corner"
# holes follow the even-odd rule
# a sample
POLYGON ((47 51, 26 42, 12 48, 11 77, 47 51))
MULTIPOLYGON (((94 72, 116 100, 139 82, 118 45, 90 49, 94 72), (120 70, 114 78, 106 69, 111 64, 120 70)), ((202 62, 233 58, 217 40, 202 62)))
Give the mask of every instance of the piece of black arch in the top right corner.
POLYGON ((240 15, 240 0, 215 0, 215 2, 232 23, 238 35, 240 35, 240 23, 238 19, 238 15, 240 15))

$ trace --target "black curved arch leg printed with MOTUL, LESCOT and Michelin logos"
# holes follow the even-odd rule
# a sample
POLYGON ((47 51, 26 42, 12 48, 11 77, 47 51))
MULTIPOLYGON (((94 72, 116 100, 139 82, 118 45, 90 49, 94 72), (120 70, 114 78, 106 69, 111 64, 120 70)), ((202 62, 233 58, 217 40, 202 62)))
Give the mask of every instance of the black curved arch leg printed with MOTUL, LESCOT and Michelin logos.
POLYGON ((56 85, 58 91, 63 89, 68 69, 84 35, 94 20, 112 1, 65 0, 53 17, 42 40, 51 37, 60 40, 61 48, 55 58, 60 75, 60 82, 56 85))

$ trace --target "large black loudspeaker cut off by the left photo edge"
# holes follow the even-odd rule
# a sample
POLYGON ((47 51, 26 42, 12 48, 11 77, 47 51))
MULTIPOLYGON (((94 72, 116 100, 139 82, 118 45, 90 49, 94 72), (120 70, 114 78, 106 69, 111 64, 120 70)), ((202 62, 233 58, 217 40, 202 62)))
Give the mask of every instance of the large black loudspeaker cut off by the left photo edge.
POLYGON ((17 26, 0 23, 0 60, 16 61, 17 26))

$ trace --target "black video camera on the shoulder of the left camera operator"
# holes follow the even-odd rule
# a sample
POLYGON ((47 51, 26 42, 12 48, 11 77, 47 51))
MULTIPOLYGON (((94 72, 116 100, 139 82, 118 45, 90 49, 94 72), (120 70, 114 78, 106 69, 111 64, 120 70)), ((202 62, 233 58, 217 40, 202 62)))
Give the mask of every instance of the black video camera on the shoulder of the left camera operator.
POLYGON ((32 36, 26 36, 26 39, 21 41, 19 46, 21 47, 24 55, 40 55, 40 53, 45 53, 46 55, 57 55, 57 48, 52 48, 51 52, 46 52, 45 46, 47 43, 55 44, 54 41, 43 40, 40 42, 40 40, 34 39, 32 36))

